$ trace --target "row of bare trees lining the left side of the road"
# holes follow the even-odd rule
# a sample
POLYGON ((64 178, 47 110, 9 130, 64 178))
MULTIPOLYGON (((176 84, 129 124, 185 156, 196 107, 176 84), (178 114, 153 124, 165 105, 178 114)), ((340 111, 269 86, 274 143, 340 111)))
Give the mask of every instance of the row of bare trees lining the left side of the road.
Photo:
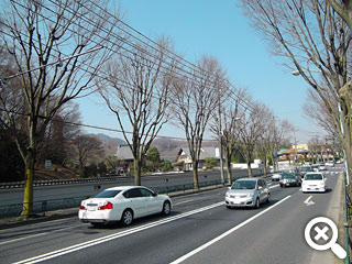
MULTIPOLYGON (((242 141, 248 161, 261 140, 265 153, 279 144, 285 129, 270 122, 276 138, 264 136, 264 120, 274 116, 235 89, 216 58, 201 56, 193 64, 174 52, 167 37, 139 38, 120 20, 119 10, 111 13, 109 1, 8 0, 3 7, 0 118, 24 163, 23 218, 33 211, 41 146, 57 146, 61 134, 55 131, 65 106, 95 91, 116 114, 132 151, 135 185, 141 185, 147 151, 166 122, 185 131, 196 189, 200 148, 210 127, 226 153, 242 141), (267 140, 271 147, 264 147, 267 140)), ((86 145, 85 139, 76 140, 77 146, 86 145)))

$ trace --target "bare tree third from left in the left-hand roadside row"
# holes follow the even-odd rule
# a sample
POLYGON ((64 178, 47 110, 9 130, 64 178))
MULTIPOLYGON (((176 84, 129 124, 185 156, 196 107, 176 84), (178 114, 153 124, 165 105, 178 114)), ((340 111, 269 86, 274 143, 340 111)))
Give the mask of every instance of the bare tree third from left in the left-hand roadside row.
POLYGON ((224 81, 224 73, 218 61, 207 56, 198 61, 191 77, 185 76, 174 81, 172 112, 176 124, 186 133, 195 189, 199 189, 198 164, 204 134, 217 111, 219 89, 226 87, 224 81))

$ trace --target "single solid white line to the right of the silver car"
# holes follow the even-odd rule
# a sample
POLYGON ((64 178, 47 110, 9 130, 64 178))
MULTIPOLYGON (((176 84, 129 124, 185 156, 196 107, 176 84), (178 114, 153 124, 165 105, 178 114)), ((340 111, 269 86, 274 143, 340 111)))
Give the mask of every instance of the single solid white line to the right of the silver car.
POLYGON ((187 253, 186 255, 177 258, 176 261, 172 262, 170 264, 178 264, 178 263, 182 263, 183 261, 191 257, 193 255, 195 255, 195 254, 199 253, 200 251, 207 249, 208 246, 217 243, 217 242, 220 241, 221 239, 228 237, 229 234, 233 233, 233 232, 237 231, 238 229, 242 228, 243 226, 245 226, 245 224, 248 224, 249 222, 253 221, 254 219, 258 218, 260 216, 262 216, 263 213, 267 212, 268 210, 277 207, 277 206, 280 205, 282 202, 284 202, 285 200, 287 200, 289 197, 290 197, 290 196, 285 197, 284 199, 282 199, 280 201, 276 202, 275 205, 271 206, 270 208, 267 208, 267 209, 265 209, 265 210, 256 213, 255 216, 249 218, 248 220, 245 220, 245 221, 243 221, 242 223, 235 226, 234 228, 230 229, 229 231, 220 234, 219 237, 210 240, 209 242, 205 243, 204 245, 197 248, 196 250, 194 250, 194 251, 187 253))

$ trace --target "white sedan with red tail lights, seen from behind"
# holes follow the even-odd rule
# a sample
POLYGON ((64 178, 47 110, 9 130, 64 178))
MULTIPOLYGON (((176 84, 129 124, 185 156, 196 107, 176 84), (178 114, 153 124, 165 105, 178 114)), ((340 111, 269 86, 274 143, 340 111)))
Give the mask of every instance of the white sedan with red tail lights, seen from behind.
POLYGON ((117 221, 129 226, 133 219, 154 213, 167 216, 170 210, 172 200, 166 195, 158 195, 142 186, 120 186, 82 200, 78 218, 94 226, 117 221))

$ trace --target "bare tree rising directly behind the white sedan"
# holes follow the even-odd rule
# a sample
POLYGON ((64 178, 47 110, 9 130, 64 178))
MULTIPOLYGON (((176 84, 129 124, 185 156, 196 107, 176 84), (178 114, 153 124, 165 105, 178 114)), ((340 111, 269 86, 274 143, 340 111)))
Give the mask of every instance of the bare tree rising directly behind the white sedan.
POLYGON ((99 79, 100 94, 117 116, 134 158, 134 184, 141 185, 144 156, 167 121, 169 87, 176 63, 169 57, 169 40, 157 48, 138 45, 109 63, 109 79, 99 79), (127 122, 124 117, 127 117, 127 122), (129 131, 132 130, 132 139, 129 131))

